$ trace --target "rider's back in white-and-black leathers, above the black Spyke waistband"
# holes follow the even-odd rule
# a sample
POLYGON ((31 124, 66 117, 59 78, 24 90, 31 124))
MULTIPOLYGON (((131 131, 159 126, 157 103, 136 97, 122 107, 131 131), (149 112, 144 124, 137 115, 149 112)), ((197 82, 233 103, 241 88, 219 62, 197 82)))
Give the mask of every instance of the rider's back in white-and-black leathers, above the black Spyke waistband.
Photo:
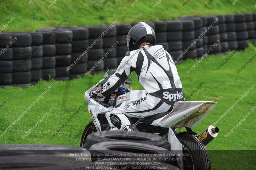
POLYGON ((174 61, 162 45, 148 44, 138 50, 128 51, 118 69, 125 69, 125 65, 130 66, 130 72, 136 72, 147 93, 182 88, 174 61))

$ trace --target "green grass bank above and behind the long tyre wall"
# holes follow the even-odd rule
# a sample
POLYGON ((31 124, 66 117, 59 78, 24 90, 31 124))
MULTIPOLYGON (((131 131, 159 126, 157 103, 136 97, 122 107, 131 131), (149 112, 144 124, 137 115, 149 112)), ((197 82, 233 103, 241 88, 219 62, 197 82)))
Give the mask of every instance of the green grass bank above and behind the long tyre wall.
POLYGON ((36 31, 37 28, 56 27, 67 15, 69 19, 65 26, 85 26, 118 22, 131 23, 139 20, 172 20, 182 15, 216 15, 256 12, 253 0, 238 1, 232 5, 233 0, 214 0, 206 9, 203 7, 208 1, 191 0, 184 7, 184 1, 164 0, 153 8, 155 1, 138 0, 58 0, 51 8, 47 6, 52 0, 4 0, 0 4, 0 25, 6 24, 12 17, 15 19, 6 31, 36 31))

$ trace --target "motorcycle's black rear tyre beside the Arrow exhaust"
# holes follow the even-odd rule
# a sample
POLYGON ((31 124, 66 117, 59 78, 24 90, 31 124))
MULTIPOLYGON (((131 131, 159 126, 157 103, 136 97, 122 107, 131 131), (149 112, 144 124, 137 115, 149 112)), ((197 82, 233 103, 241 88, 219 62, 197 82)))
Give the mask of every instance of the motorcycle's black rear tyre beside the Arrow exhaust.
POLYGON ((204 144, 194 135, 182 133, 177 135, 183 148, 183 169, 211 169, 211 161, 204 144))

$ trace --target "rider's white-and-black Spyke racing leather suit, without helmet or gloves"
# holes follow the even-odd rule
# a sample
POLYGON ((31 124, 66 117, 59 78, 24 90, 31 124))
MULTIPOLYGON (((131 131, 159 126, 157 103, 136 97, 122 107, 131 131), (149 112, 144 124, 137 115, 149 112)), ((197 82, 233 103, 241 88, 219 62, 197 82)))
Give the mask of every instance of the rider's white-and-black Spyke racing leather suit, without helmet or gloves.
MULTIPOLYGON (((118 89, 132 71, 136 73, 145 90, 133 90, 129 92, 130 94, 119 96, 118 98, 124 99, 124 102, 117 104, 106 114, 108 122, 111 114, 120 118, 122 123, 120 130, 131 124, 123 114, 128 118, 143 118, 157 113, 171 112, 174 103, 184 101, 185 98, 171 55, 162 45, 151 44, 126 53, 116 73, 102 87, 102 94, 107 96, 118 89)), ((111 123, 110 125, 112 126, 111 123)))

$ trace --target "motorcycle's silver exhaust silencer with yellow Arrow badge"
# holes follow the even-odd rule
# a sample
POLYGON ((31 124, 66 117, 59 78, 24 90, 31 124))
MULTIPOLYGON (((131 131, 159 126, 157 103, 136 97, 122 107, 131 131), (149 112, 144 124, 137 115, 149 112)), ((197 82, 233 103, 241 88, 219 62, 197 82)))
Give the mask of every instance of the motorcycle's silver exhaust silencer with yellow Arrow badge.
POLYGON ((214 127, 210 125, 208 128, 206 128, 199 136, 199 140, 204 143, 204 146, 206 146, 208 143, 210 143, 215 137, 217 137, 219 132, 218 127, 214 127))

